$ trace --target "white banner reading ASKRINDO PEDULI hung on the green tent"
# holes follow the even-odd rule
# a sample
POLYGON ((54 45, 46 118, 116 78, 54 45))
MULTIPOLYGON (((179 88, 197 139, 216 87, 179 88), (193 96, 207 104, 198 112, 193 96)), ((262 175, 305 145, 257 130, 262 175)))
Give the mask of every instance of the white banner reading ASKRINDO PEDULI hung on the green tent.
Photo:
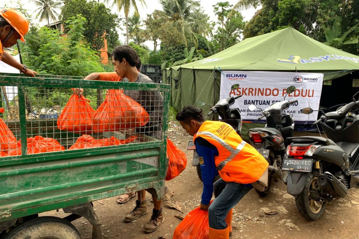
POLYGON ((318 111, 305 115, 300 113, 300 109, 319 109, 323 77, 320 73, 222 71, 220 99, 242 95, 231 108, 239 108, 243 120, 253 121, 261 116, 261 110, 250 111, 249 105, 264 110, 273 102, 284 100, 286 88, 294 85, 295 92, 288 94, 285 100, 298 100, 298 103, 291 105, 286 113, 292 114, 296 123, 305 124, 316 121, 318 111))

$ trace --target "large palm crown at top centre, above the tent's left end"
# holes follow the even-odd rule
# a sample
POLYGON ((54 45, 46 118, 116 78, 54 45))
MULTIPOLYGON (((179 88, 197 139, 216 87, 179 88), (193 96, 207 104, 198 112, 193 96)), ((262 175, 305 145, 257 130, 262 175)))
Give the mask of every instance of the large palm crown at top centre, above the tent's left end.
POLYGON ((201 29, 201 34, 203 32, 208 34, 208 17, 203 12, 199 12, 200 3, 194 0, 160 0, 160 4, 168 17, 169 24, 180 32, 186 46, 187 37, 198 46, 194 27, 201 29))

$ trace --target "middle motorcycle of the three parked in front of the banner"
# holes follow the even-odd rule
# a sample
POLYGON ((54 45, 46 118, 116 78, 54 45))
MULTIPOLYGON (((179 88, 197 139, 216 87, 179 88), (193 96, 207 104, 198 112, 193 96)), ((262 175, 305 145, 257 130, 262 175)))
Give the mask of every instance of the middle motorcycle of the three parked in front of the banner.
MULTIPOLYGON (((271 187, 272 178, 278 181, 282 176, 280 170, 281 162, 286 157, 285 142, 288 137, 293 137, 294 120, 292 115, 283 112, 287 110, 290 105, 295 104, 298 100, 288 101, 285 97, 294 92, 295 87, 290 86, 286 89, 287 94, 284 100, 274 102, 267 109, 262 110, 262 116, 258 120, 266 117, 266 125, 264 128, 253 128, 248 130, 248 137, 250 144, 258 150, 258 152, 268 161, 269 165, 276 168, 276 173, 268 178, 268 186, 264 192, 256 189, 256 192, 261 196, 266 196, 271 187)), ((254 111, 257 109, 255 105, 248 106, 248 109, 254 111)))

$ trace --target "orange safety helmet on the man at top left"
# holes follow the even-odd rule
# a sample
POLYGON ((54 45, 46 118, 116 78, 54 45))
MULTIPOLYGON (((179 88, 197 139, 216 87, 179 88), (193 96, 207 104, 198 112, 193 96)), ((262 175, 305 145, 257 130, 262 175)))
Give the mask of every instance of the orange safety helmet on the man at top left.
POLYGON ((20 40, 25 42, 24 35, 29 31, 30 22, 14 8, 4 8, 0 10, 0 16, 20 34, 20 40))

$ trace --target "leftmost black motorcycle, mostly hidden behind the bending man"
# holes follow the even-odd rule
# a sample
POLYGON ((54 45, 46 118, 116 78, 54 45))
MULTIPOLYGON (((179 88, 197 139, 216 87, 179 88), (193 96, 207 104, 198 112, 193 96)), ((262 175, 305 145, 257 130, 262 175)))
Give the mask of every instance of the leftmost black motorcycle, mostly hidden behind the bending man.
MULTIPOLYGON (((241 128, 242 128, 242 118, 241 112, 238 108, 230 109, 229 106, 233 105, 236 99, 240 98, 242 95, 233 97, 230 96, 227 99, 223 99, 217 102, 213 107, 210 108, 210 112, 206 115, 206 117, 210 116, 211 114, 218 114, 220 116, 221 122, 225 122, 233 127, 236 130, 237 134, 241 135, 241 128)), ((204 101, 200 101, 196 104, 197 106, 204 106, 207 105, 204 101)), ((199 179, 202 181, 201 175, 201 167, 199 163, 198 154, 196 152, 196 146, 194 145, 193 141, 188 142, 187 150, 194 150, 193 152, 193 159, 192 159, 192 166, 197 168, 197 175, 199 179)), ((219 176, 215 177, 215 181, 219 179, 219 176)))

